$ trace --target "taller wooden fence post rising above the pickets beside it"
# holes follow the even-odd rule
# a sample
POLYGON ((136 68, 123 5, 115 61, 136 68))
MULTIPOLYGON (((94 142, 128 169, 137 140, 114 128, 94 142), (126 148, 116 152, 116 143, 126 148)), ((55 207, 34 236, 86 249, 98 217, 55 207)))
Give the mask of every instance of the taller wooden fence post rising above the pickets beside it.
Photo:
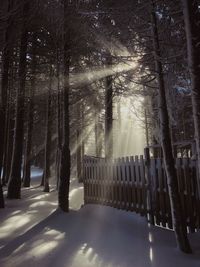
POLYGON ((153 210, 153 199, 152 199, 152 182, 151 182, 151 162, 149 148, 144 149, 145 158, 145 179, 147 181, 147 212, 149 211, 149 221, 152 225, 154 222, 154 210, 153 210))

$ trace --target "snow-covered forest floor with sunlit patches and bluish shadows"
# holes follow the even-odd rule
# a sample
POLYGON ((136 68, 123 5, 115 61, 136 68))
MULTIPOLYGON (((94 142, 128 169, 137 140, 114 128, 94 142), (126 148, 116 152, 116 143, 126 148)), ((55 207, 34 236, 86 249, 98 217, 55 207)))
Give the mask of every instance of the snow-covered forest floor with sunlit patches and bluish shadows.
POLYGON ((0 210, 0 266, 200 267, 200 233, 189 236, 193 255, 176 249, 172 231, 148 226, 134 213, 83 203, 83 187, 71 182, 70 213, 57 210, 50 193, 33 185, 21 200, 6 200, 0 210))

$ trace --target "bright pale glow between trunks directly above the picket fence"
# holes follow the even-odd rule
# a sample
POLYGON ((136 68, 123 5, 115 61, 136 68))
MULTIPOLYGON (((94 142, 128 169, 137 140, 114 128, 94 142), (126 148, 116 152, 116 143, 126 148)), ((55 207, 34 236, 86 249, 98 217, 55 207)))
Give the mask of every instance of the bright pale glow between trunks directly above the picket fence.
POLYGON ((134 96, 131 99, 121 97, 117 105, 119 106, 116 107, 115 112, 118 119, 113 124, 116 144, 113 148, 114 156, 142 155, 145 146, 145 131, 141 123, 143 120, 141 116, 143 98, 139 96, 134 96))

